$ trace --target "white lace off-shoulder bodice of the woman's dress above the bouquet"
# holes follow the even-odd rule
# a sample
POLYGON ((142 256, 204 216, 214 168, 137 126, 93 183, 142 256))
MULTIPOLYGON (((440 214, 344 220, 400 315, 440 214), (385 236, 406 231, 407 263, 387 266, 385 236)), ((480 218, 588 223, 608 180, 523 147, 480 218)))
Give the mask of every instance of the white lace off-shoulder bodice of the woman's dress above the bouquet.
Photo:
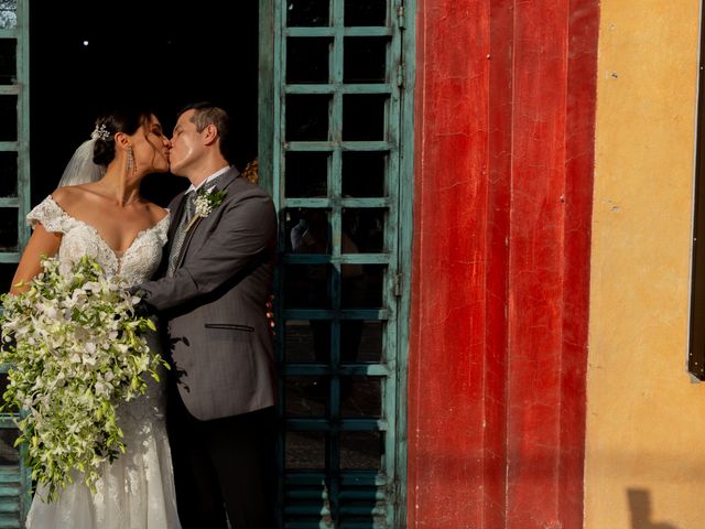
POLYGON ((74 262, 87 255, 96 259, 107 274, 121 276, 128 284, 141 283, 154 273, 169 229, 166 215, 154 226, 141 230, 119 256, 95 227, 68 215, 51 195, 32 209, 26 219, 31 226, 41 223, 47 231, 63 234, 58 248, 61 262, 74 262))

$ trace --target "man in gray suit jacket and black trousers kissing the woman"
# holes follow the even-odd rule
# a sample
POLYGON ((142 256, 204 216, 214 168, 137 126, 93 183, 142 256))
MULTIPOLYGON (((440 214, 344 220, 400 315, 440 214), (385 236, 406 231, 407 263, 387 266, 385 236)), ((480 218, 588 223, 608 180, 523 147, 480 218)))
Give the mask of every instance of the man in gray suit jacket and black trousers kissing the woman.
POLYGON ((264 306, 276 216, 227 155, 229 119, 210 104, 180 114, 171 172, 191 186, 170 204, 161 279, 138 285, 166 326, 174 368, 167 425, 184 529, 274 523, 274 358, 264 306), (212 191, 212 193, 204 193, 212 191))

